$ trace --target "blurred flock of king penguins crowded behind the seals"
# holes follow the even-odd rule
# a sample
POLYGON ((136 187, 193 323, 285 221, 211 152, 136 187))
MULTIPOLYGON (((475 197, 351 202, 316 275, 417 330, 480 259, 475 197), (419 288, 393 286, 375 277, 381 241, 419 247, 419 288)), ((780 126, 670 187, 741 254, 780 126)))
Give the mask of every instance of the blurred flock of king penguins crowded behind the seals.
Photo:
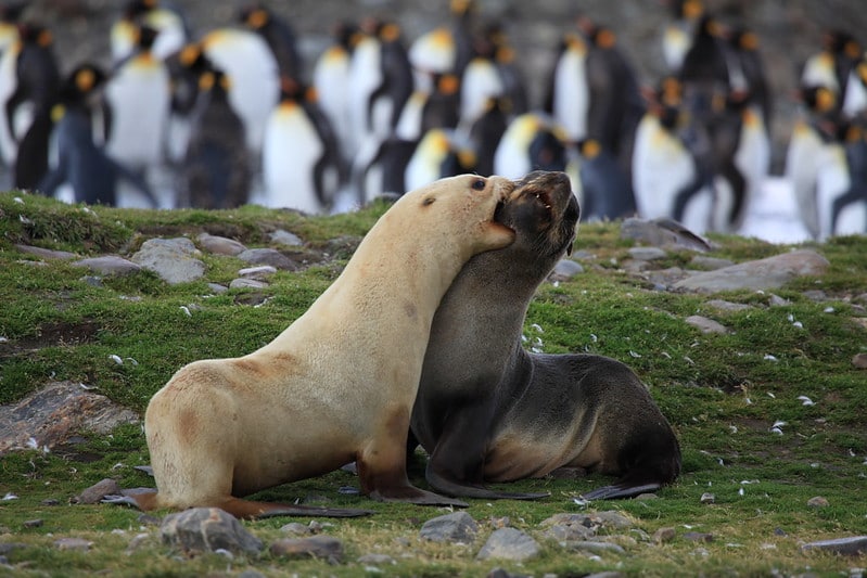
MULTIPOLYGON (((260 1, 195 33, 178 5, 127 0, 105 30, 110 65, 68 73, 28 2, 0 1, 0 163, 13 187, 69 202, 305 214, 460 172, 562 170, 586 220, 737 232, 772 156, 758 38, 701 0, 665 3, 652 86, 613 27, 564 14, 536 103, 519 47, 474 0, 416 38, 392 17, 337 22, 315 57, 260 1)), ((804 228, 865 233, 864 47, 829 30, 799 75, 785 174, 804 228)))

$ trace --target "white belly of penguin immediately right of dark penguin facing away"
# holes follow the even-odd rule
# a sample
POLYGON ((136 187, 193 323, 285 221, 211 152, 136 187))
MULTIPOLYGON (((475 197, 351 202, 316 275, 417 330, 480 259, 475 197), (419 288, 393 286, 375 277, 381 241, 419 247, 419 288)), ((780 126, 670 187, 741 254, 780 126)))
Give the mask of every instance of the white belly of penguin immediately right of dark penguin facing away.
POLYGON ((301 106, 276 108, 268 118, 262 149, 266 206, 320 213, 314 166, 323 153, 319 133, 301 106))

